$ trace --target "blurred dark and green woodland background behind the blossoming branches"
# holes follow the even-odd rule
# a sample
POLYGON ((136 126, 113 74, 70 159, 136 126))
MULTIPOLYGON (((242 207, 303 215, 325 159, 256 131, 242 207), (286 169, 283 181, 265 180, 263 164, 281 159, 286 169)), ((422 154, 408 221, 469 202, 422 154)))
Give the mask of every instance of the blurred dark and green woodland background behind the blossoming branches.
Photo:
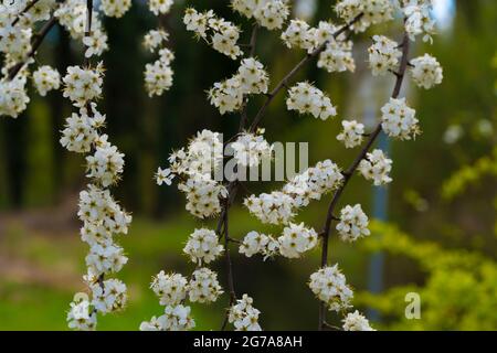
MULTIPOLYGON (((294 13, 310 23, 334 19, 330 1, 293 1, 294 13)), ((331 1, 332 2, 332 1, 331 1)), ((162 25, 170 32, 176 53, 175 85, 150 99, 142 71, 152 61, 141 46, 144 34, 158 20, 141 2, 119 20, 105 19, 110 50, 101 110, 107 115, 112 141, 126 153, 123 181, 113 190, 134 215, 129 235, 120 244, 129 263, 118 275, 129 288, 128 308, 101 317, 101 330, 137 330, 140 322, 161 313, 150 278, 161 269, 189 275, 182 247, 194 227, 213 226, 184 211, 176 188, 157 186, 154 173, 167 165, 171 149, 186 145, 199 129, 231 136, 236 115, 220 116, 207 101, 205 89, 230 76, 236 63, 192 39, 182 22, 184 1, 175 1, 162 25)), ((497 329, 497 3, 494 0, 434 0, 438 20, 434 44, 417 41, 413 55, 427 52, 444 68, 443 84, 431 90, 404 85, 417 111, 423 133, 415 141, 388 142, 393 158, 393 183, 388 189, 353 178, 341 200, 361 203, 376 218, 372 235, 353 245, 331 235, 330 259, 338 263, 356 290, 355 306, 383 330, 495 330, 497 329), (406 320, 404 296, 421 296, 421 319, 406 320)), ((202 1, 189 1, 198 9, 202 1)), ((251 24, 234 14, 225 0, 209 8, 240 23, 241 42, 248 42, 251 24)), ((357 36, 355 74, 332 74, 306 66, 297 79, 309 79, 326 90, 339 116, 318 121, 286 111, 284 95, 263 120, 269 141, 308 141, 310 163, 330 158, 348 165, 357 151, 336 140, 340 119, 371 126, 388 99, 393 77, 371 77, 366 67, 369 36, 385 34, 400 41, 401 21, 374 26, 357 36)), ((289 51, 277 32, 262 31, 256 53, 272 83, 282 78, 303 56, 289 51)), ((38 62, 61 73, 82 62, 81 47, 55 28, 43 44, 38 62)), ((406 81, 409 83, 409 79, 406 81)), ((32 92, 28 110, 18 119, 0 119, 0 329, 65 330, 73 295, 84 290, 87 246, 80 240, 77 193, 86 183, 84 160, 59 143, 60 130, 72 107, 59 92, 39 97, 32 92)), ((262 98, 252 99, 250 117, 262 98)), ((278 188, 277 183, 248 183, 251 193, 278 188)), ((242 194, 243 196, 243 194, 242 194)), ((320 229, 330 196, 313 203, 297 220, 320 229)), ((240 204, 240 199, 239 199, 240 204)), ((231 212, 232 236, 263 227, 246 210, 231 212)), ((233 250, 236 253, 236 249, 233 250)), ((318 302, 306 282, 318 268, 314 250, 302 260, 234 256, 235 288, 247 292, 262 311, 263 329, 317 328, 318 302)), ((214 266, 225 287, 222 261, 214 266)), ((218 329, 223 320, 223 296, 215 304, 192 306, 197 329, 218 329)), ((339 324, 339 318, 331 320, 339 324)))

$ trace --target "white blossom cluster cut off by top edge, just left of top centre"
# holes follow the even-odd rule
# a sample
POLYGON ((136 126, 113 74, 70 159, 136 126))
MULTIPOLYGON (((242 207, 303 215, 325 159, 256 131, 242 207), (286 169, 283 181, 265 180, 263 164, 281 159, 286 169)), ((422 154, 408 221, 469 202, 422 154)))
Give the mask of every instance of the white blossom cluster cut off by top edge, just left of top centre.
POLYGON ((287 0, 231 0, 231 6, 268 30, 281 29, 289 14, 287 0))

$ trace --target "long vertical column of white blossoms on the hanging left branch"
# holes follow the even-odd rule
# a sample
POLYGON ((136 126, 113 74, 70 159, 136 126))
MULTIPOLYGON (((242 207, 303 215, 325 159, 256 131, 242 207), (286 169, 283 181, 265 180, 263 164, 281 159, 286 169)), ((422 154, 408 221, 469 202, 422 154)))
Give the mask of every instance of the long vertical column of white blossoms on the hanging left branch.
MULTIPOLYGON (((86 54, 91 50, 85 41, 88 38, 83 40, 87 45, 86 54)), ((83 279, 91 297, 75 299, 67 313, 68 327, 77 330, 94 330, 97 312, 106 314, 118 311, 127 302, 126 285, 119 279, 106 278, 120 271, 128 261, 114 236, 127 234, 131 216, 119 206, 108 190, 123 173, 124 154, 108 141, 107 135, 101 133, 105 115, 97 110, 94 100, 102 94, 103 72, 102 63, 95 68, 89 65, 68 66, 62 78, 63 95, 78 108, 78 113, 73 113, 66 119, 60 142, 70 151, 88 153, 86 176, 91 179, 86 190, 80 193, 77 213, 83 222, 81 238, 89 247, 85 258, 87 272, 83 279)), ((44 86, 46 88, 46 83, 44 86)))

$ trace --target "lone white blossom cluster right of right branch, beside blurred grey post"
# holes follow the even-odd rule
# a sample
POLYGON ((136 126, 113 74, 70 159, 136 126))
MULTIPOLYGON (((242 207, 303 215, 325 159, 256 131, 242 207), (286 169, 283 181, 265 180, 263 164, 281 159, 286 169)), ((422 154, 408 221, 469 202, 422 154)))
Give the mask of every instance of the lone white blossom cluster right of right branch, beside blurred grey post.
POLYGON ((337 231, 340 239, 343 242, 356 242, 358 238, 368 236, 369 220, 362 212, 361 205, 347 205, 340 211, 340 222, 337 224, 337 231))

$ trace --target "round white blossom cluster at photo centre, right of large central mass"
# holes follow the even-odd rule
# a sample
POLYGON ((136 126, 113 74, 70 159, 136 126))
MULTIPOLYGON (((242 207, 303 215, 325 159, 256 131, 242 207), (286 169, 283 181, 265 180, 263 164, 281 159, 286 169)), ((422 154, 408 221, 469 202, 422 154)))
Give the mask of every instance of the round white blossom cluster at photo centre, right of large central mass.
POLYGON ((236 162, 244 167, 255 167, 264 159, 271 159, 273 146, 261 135, 244 132, 231 143, 236 162))

